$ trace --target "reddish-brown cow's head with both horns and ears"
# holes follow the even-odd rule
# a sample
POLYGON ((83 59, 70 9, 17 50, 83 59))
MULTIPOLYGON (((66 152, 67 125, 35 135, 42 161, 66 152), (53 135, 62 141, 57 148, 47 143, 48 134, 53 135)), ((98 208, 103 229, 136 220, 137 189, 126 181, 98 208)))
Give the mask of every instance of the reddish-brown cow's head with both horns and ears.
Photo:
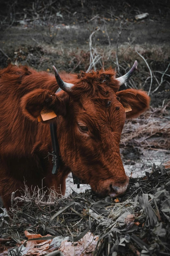
POLYGON ((82 72, 66 83, 54 67, 61 92, 36 89, 22 98, 23 111, 32 120, 44 108, 55 112, 57 117, 49 121, 57 122, 64 165, 100 196, 121 195, 129 184, 120 158, 120 136, 125 119, 149 107, 149 96, 141 90, 118 90, 136 68, 137 61, 117 79, 112 69, 82 72))

